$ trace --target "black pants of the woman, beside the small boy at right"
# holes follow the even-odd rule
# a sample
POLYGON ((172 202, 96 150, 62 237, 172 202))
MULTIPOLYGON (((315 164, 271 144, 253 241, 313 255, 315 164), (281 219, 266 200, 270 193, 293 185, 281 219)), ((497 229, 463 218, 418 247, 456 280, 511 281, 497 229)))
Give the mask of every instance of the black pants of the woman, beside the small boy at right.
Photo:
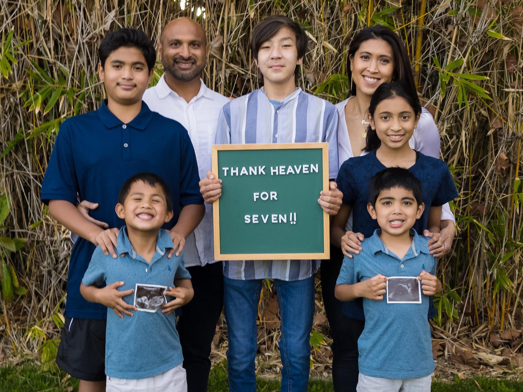
POLYGON ((358 338, 365 321, 349 318, 342 313, 343 302, 334 296, 334 287, 342 268, 342 250, 331 245, 331 259, 322 261, 320 277, 323 305, 331 327, 332 380, 335 392, 356 391, 358 384, 358 338))

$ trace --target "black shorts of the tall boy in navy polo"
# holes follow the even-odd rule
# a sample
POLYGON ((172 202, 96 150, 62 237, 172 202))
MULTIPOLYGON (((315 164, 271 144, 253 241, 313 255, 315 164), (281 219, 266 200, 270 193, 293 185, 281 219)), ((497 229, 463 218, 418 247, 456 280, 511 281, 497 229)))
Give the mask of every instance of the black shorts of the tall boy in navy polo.
POLYGON ((56 364, 84 381, 104 381, 106 320, 65 317, 56 364))

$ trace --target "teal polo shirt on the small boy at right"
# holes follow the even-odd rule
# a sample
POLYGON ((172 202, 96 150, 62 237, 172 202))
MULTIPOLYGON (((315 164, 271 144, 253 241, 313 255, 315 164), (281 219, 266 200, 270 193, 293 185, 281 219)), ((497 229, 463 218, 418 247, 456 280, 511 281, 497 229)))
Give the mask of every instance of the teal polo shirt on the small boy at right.
MULTIPOLYGON (((336 284, 354 284, 381 273, 385 276, 418 276, 422 270, 436 274, 436 259, 430 255, 427 239, 411 229, 412 244, 400 259, 379 237, 381 229, 365 239, 359 255, 343 259, 336 284)), ((434 372, 430 327, 427 320, 429 297, 420 304, 388 304, 363 298, 365 329, 358 339, 359 371, 369 377, 417 378, 434 372)))

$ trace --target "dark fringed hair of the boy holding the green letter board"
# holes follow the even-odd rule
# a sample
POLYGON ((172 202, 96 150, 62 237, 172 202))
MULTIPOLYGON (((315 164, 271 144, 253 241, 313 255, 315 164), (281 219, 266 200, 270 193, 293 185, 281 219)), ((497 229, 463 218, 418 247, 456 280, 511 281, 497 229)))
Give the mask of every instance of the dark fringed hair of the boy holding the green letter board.
MULTIPOLYGON (((251 37, 251 54, 254 59, 258 60, 258 51, 261 44, 274 37, 282 27, 288 27, 296 36, 296 49, 298 51, 298 59, 302 59, 307 51, 307 42, 309 38, 305 30, 298 25, 291 18, 284 15, 270 15, 259 22, 253 30, 251 37)), ((300 66, 297 65, 294 74, 298 75, 300 66)))

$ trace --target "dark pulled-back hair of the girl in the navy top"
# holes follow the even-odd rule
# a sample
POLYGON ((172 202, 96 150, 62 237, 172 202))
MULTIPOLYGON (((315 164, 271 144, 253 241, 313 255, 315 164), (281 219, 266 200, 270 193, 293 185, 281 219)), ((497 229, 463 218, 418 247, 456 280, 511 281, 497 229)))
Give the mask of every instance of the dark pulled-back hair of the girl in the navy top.
MULTIPOLYGON (((401 97, 407 101, 408 105, 414 110, 414 115, 418 116, 422 112, 422 106, 419 104, 418 94, 416 89, 411 89, 405 86, 401 82, 394 83, 382 83, 378 86, 372 98, 370 99, 369 113, 372 118, 374 118, 374 112, 376 107, 385 99, 401 97)), ((369 125, 367 127, 367 138, 365 139, 365 148, 363 151, 371 152, 377 149, 381 145, 381 140, 376 133, 376 130, 373 130, 369 125)))

